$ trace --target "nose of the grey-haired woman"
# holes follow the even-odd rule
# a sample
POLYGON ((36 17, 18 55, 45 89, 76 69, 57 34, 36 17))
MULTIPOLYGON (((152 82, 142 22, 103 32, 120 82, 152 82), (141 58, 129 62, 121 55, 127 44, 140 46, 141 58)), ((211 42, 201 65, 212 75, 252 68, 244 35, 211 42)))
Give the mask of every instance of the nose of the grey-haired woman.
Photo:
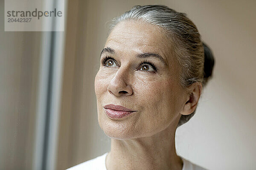
POLYGON ((128 75, 126 70, 119 68, 115 76, 108 84, 108 92, 115 96, 130 96, 133 94, 133 90, 130 85, 127 84, 128 75))

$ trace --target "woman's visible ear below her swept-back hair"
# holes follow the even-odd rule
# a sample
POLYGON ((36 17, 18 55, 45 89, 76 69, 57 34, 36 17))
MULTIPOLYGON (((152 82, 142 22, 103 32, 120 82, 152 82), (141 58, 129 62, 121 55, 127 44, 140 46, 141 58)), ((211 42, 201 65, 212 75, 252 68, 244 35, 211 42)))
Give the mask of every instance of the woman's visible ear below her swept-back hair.
POLYGON ((189 115, 195 111, 199 98, 202 92, 202 83, 194 82, 187 89, 186 102, 183 105, 183 109, 180 112, 182 115, 189 115))

